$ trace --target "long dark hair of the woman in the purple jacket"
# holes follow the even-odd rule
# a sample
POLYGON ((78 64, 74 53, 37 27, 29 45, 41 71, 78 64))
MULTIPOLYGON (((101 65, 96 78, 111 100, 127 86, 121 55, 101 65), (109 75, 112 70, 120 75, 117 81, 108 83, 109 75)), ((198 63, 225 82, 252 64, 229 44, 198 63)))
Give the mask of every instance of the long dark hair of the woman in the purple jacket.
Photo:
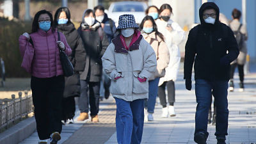
POLYGON ((36 13, 34 19, 33 19, 33 23, 32 23, 32 31, 31 33, 35 33, 36 31, 38 31, 39 29, 39 24, 38 24, 38 19, 39 16, 42 14, 47 14, 49 15, 50 19, 51 19, 51 28, 52 28, 52 32, 55 31, 55 28, 53 26, 53 19, 52 19, 52 13, 47 11, 47 10, 40 10, 39 12, 36 13))

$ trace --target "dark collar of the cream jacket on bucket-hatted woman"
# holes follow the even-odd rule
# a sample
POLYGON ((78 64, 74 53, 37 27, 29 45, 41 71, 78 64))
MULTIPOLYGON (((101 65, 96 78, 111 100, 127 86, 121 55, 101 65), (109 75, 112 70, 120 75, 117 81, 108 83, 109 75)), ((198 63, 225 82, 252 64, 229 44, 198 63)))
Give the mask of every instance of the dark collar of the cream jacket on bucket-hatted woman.
MULTIPOLYGON (((136 49, 139 49, 140 41, 141 41, 142 38, 143 38, 143 36, 140 35, 139 38, 131 45, 131 47, 129 47, 129 51, 134 51, 136 49)), ((115 45, 115 52, 125 53, 125 54, 128 53, 128 51, 125 49, 124 45, 122 44, 122 40, 120 38, 120 35, 116 36, 112 40, 112 42, 115 45)))

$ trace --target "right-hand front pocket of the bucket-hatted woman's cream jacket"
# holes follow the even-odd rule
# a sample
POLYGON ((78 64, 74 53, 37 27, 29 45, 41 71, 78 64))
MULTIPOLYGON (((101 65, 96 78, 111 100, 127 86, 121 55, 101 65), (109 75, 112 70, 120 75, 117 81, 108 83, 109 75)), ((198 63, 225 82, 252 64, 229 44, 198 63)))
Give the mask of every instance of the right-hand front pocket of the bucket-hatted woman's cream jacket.
POLYGON ((133 72, 132 93, 136 93, 136 94, 148 93, 148 79, 147 81, 141 83, 138 80, 138 73, 136 72, 133 72))

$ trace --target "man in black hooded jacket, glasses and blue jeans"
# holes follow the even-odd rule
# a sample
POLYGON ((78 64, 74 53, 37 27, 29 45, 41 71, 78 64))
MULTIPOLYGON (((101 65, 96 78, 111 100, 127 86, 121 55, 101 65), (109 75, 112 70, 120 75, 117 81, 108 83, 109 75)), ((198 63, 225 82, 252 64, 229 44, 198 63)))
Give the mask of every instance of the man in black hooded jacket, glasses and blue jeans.
POLYGON ((201 24, 189 31, 185 47, 184 79, 191 90, 191 72, 195 60, 196 143, 206 144, 207 117, 212 95, 216 117, 216 139, 225 143, 228 128, 227 89, 230 63, 236 60, 239 49, 233 31, 219 21, 220 10, 215 3, 204 3, 199 10, 201 24), (227 53, 228 51, 228 53, 227 53))

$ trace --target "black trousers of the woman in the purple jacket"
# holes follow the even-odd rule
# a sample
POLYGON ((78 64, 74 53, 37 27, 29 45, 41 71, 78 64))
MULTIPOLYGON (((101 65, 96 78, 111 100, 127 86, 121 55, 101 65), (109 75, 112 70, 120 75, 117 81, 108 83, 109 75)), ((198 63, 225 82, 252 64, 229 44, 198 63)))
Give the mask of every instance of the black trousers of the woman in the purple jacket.
POLYGON ((52 132, 61 132, 62 130, 61 99, 64 86, 64 76, 31 77, 36 129, 40 140, 46 140, 52 132))

